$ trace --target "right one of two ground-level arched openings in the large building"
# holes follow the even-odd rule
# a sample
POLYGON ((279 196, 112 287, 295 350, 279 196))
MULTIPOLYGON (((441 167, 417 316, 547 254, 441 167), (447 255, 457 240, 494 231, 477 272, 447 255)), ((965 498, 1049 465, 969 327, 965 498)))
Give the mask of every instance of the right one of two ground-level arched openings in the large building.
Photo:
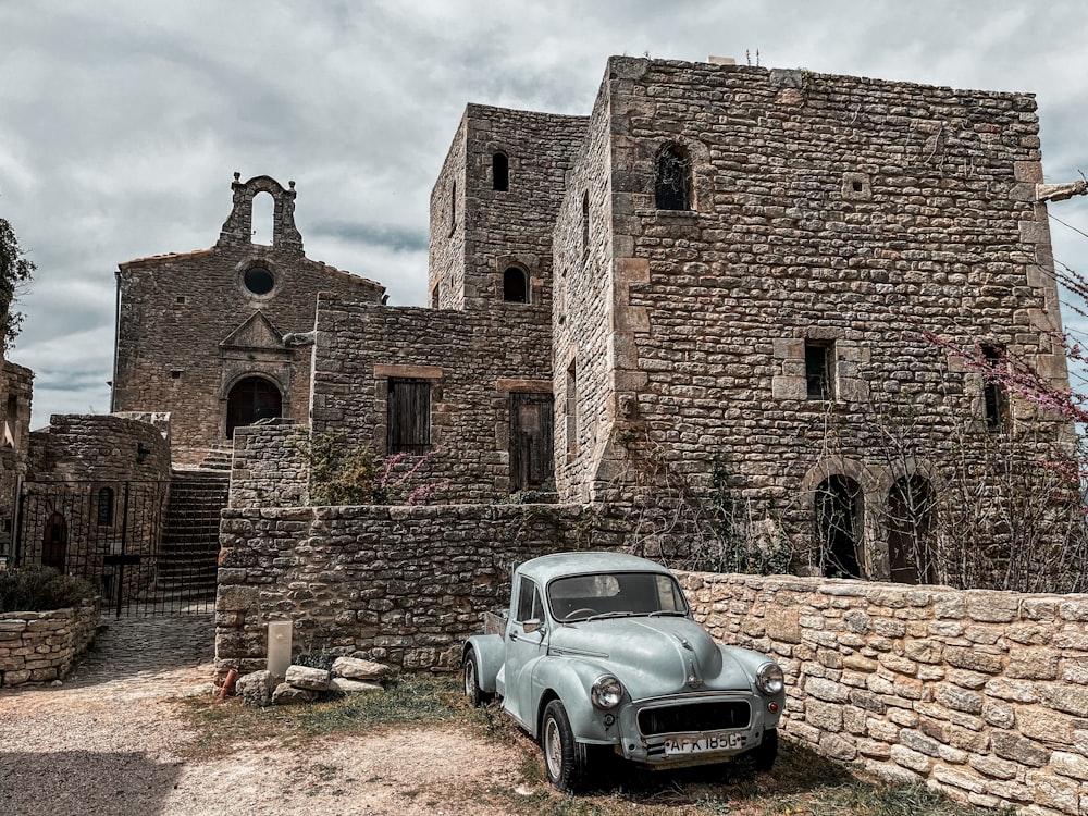
POLYGON ((929 549, 934 497, 924 477, 900 479, 888 493, 888 567, 892 581, 934 583, 929 549))

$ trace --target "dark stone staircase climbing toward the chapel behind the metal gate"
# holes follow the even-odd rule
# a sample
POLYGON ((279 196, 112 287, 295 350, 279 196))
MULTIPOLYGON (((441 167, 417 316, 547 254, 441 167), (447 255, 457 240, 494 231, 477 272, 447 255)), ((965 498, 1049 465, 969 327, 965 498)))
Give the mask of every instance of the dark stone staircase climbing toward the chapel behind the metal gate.
POLYGON ((175 470, 159 552, 156 601, 211 601, 219 569, 219 516, 230 474, 222 469, 175 470))

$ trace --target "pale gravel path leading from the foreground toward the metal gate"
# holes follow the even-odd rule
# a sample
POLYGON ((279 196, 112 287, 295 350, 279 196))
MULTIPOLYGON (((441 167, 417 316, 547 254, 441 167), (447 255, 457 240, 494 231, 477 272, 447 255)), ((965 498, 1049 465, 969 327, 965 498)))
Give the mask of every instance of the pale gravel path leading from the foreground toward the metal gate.
POLYGON ((448 728, 186 758, 211 617, 110 621, 60 685, 0 690, 0 816, 506 814, 520 755, 448 728))

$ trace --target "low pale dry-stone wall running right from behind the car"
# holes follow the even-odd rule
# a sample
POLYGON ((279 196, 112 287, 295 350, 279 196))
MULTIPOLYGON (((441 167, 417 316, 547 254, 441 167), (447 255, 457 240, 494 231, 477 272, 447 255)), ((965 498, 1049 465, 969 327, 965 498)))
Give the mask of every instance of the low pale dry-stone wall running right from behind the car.
POLYGON ((719 641, 786 670, 784 731, 961 801, 1088 803, 1088 596, 685 573, 719 641))

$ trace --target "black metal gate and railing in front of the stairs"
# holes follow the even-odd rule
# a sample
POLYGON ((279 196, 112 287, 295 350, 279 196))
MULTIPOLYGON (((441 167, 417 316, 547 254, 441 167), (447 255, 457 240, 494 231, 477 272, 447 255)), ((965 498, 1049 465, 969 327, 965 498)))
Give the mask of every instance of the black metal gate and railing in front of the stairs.
POLYGON ((178 546, 171 515, 165 481, 26 482, 14 566, 82 578, 101 594, 103 611, 119 617, 212 611, 218 531, 203 546, 178 546))

